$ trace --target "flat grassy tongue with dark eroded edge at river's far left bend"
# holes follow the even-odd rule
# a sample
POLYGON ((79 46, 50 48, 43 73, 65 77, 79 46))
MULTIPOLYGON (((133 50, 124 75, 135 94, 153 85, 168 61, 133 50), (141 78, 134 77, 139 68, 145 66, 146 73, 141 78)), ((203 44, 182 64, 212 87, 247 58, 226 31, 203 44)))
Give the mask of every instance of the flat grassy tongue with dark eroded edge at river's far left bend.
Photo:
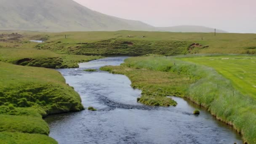
POLYGON ((57 54, 32 48, 0 48, 0 61, 31 67, 77 68, 77 63, 100 59, 101 56, 57 54))

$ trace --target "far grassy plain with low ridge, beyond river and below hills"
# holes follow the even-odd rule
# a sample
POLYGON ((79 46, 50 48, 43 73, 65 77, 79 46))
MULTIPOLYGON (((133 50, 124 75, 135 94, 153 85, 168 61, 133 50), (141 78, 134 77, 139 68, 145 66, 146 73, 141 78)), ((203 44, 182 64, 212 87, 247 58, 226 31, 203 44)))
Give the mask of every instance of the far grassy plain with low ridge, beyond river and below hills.
POLYGON ((144 55, 166 56, 184 53, 243 53, 255 54, 256 34, 177 33, 177 32, 61 32, 40 33, 48 37, 37 48, 57 53, 85 55, 144 55), (64 35, 68 35, 65 39, 64 35), (128 37, 131 35, 132 37, 128 37), (140 36, 145 36, 140 38, 140 36), (202 40, 203 37, 203 40, 202 40), (201 47, 189 48, 192 43, 201 47), (204 46, 209 46, 203 48, 204 46))

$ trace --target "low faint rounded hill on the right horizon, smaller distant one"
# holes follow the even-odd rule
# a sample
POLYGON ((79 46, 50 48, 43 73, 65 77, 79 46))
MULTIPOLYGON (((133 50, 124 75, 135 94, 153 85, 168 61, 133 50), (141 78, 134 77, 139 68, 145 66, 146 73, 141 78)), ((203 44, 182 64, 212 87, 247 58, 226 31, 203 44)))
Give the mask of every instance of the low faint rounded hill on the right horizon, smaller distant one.
MULTIPOLYGON (((163 32, 214 32, 214 28, 203 26, 174 26, 174 27, 157 27, 157 31, 163 32)), ((216 29, 216 32, 227 33, 224 30, 216 29)))

